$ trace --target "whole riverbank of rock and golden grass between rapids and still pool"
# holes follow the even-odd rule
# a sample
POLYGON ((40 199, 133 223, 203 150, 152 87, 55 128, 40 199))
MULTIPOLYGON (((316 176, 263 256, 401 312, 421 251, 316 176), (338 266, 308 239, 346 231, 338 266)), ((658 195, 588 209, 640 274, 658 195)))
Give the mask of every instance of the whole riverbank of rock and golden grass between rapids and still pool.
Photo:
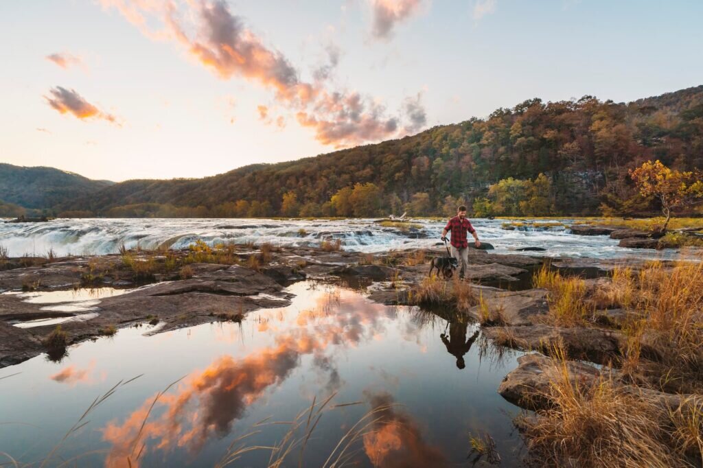
MULTIPOLYGON (((470 282, 427 278, 430 258, 442 254, 439 247, 344 252, 338 242, 295 249, 198 243, 190 249, 124 249, 27 266, 14 259, 19 268, 0 272, 6 290, 0 294, 0 364, 40 353, 60 360, 73 344, 124 327, 150 325, 148 334, 155 335, 238 322, 252 311, 290 304, 286 285, 342 282, 381 304, 461 313, 498 346, 538 351, 520 358, 498 389, 508 401, 537 411, 519 424, 537 457, 548 458, 540 424, 569 417, 558 390, 578 391, 579 403, 586 404, 595 398, 595 383, 607 380, 613 395, 626 392, 626 401, 648 405, 649 412, 659 408, 664 419, 664 407, 650 403, 665 402, 681 417, 662 426, 669 429, 656 436, 661 446, 674 440, 681 421, 699 421, 690 418, 700 409, 696 402, 703 388, 700 263, 549 260, 471 249, 470 282), (51 299, 74 291, 88 294, 51 299), (566 377, 557 379, 560 375, 566 377)), ((695 431, 700 427, 694 424, 687 437, 700 434, 695 431)), ((671 446, 666 460, 699 460, 695 446, 684 445, 671 446)), ((572 455, 549 456, 558 464, 572 455)))

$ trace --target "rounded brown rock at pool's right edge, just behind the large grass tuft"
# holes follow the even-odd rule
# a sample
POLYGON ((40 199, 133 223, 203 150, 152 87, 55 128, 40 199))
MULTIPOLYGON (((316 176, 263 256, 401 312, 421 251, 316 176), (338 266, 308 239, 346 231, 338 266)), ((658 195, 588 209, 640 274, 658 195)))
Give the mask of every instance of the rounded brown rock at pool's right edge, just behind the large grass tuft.
MULTIPOLYGON (((550 382, 559 379, 559 371, 552 358, 532 353, 517 358, 518 366, 505 376, 498 386, 498 394, 521 408, 538 410, 547 408, 550 382)), ((567 361, 572 382, 581 388, 591 386, 600 377, 600 370, 585 363, 567 361)))

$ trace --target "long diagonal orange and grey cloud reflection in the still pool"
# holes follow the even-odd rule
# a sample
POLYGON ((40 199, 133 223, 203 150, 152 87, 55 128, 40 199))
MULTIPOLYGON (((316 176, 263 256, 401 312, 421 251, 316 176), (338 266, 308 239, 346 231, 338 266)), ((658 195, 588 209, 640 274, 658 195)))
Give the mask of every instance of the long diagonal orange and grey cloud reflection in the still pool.
MULTIPOLYGON (((320 301, 329 302, 329 298, 318 298, 318 306, 320 301)), ((314 353, 313 365, 329 375, 327 388, 336 389, 341 384, 340 375, 325 351, 332 345, 356 346, 372 339, 383 330, 382 320, 395 313, 359 294, 345 292, 335 311, 324 318, 316 316, 313 309, 299 315, 307 316, 308 327, 284 332, 276 337, 274 346, 244 358, 221 356, 207 369, 188 376, 176 394, 161 396, 156 406, 164 410, 151 416, 141 431, 141 440, 155 441, 154 447, 160 450, 178 446, 197 452, 210 437, 228 434, 246 408, 266 389, 283 382, 300 365, 303 355, 314 353)), ((124 464, 154 398, 148 398, 122 424, 112 421, 103 429, 103 438, 112 443, 107 466, 124 464)))

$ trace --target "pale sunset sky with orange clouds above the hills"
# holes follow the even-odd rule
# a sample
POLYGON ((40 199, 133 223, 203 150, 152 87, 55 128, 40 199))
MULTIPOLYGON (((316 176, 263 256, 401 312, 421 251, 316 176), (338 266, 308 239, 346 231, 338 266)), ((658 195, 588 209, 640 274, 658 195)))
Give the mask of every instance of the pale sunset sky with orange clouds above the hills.
POLYGON ((699 0, 0 0, 0 162, 202 177, 703 84, 699 0))

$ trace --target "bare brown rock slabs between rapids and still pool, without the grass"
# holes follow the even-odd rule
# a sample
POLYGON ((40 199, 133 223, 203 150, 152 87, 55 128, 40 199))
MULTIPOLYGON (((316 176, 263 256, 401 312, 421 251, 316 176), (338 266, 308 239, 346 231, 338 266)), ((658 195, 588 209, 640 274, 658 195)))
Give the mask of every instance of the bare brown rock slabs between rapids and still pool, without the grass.
MULTIPOLYGON (((229 247, 225 263, 218 263, 217 259, 225 257, 217 255, 209 252, 206 261, 193 261, 200 257, 193 257, 188 249, 123 252, 53 261, 25 259, 27 266, 22 266, 21 259, 9 259, 5 264, 9 269, 0 271, 0 289, 5 292, 0 294, 0 368, 41 353, 47 353, 49 358, 63 356, 60 350, 49 349, 48 345, 56 325, 20 328, 14 326, 16 323, 42 318, 76 318, 61 323, 65 346, 109 334, 105 330, 146 323, 157 324, 148 331, 156 334, 217 320, 238 321, 250 311, 288 306, 291 297, 285 292, 285 286, 305 279, 363 287, 371 301, 382 304, 422 306, 418 287, 427 281, 430 258, 442 256, 443 251, 437 247, 372 255, 344 252, 339 246, 273 249, 249 245, 229 247), (185 264, 186 259, 191 262, 185 264), (169 270, 166 268, 169 262, 183 264, 183 268, 169 270), (140 265, 146 263, 153 268, 145 279, 140 265), (90 287, 127 288, 129 292, 99 299, 99 303, 90 308, 91 316, 84 320, 79 319, 83 311, 47 311, 42 308, 46 304, 33 304, 20 294, 7 294, 90 287)), ((587 326, 550 323, 550 292, 533 287, 531 280, 546 262, 550 264, 550 271, 565 277, 580 275, 585 278, 583 285, 589 291, 610 284, 609 274, 616 268, 637 273, 646 264, 632 259, 548 259, 470 249, 467 280, 471 282, 473 302, 460 312, 480 323, 484 336, 496 346, 532 351, 520 358, 519 367, 510 372, 497 389, 508 401, 526 409, 548 405, 539 395, 545 393, 553 378, 547 369, 553 367, 553 358, 549 356, 554 356, 555 350, 563 350, 574 378, 588 384, 600 378, 604 369, 611 372, 613 363, 631 346, 632 339, 624 331, 631 313, 616 306, 594 308, 587 326)), ((662 262, 661 265, 673 268, 673 263, 662 262)), ((444 287, 451 291, 458 285, 450 280, 444 287)), ((455 308, 456 303, 450 301, 440 306, 455 308)), ((657 347, 647 342, 647 334, 638 346, 642 356, 654 360, 660 357, 657 347)), ((622 378, 617 371, 612 375, 622 378)), ((682 398, 664 391, 643 391, 669 403, 682 398)))

